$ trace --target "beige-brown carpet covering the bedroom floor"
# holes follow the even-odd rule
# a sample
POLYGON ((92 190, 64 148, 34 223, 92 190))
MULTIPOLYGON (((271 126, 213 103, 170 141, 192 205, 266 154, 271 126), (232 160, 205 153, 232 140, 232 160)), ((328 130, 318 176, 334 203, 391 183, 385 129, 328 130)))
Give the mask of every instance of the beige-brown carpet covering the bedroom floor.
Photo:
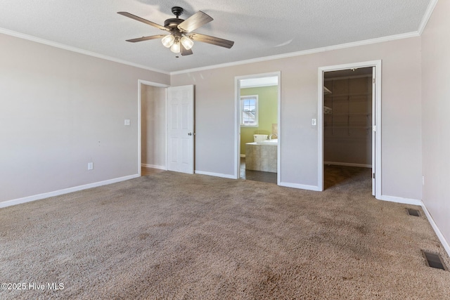
POLYGON ((353 173, 318 193, 166 171, 0 209, 0 282, 26 284, 0 299, 449 299, 425 216, 353 173))

